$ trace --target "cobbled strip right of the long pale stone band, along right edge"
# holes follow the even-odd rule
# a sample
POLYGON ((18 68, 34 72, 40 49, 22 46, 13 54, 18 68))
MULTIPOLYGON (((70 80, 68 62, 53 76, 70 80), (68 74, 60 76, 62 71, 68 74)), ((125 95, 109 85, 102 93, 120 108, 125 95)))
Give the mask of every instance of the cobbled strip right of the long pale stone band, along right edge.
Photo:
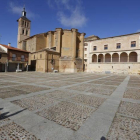
POLYGON ((107 135, 108 140, 140 140, 140 77, 131 76, 116 116, 107 135))

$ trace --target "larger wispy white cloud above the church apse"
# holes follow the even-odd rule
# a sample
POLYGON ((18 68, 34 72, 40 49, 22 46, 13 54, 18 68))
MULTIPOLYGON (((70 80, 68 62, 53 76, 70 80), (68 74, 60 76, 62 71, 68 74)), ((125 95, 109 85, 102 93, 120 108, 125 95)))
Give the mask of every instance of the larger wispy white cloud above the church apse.
POLYGON ((51 8, 57 7, 58 20, 62 25, 75 28, 86 24, 81 0, 48 0, 48 3, 51 8))

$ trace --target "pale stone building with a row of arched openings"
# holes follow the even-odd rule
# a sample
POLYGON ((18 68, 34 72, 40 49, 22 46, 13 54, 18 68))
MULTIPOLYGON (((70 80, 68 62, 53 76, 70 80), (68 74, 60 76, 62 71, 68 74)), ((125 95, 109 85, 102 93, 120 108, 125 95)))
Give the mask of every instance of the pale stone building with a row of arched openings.
POLYGON ((85 39, 87 72, 140 74, 140 32, 100 39, 85 39))

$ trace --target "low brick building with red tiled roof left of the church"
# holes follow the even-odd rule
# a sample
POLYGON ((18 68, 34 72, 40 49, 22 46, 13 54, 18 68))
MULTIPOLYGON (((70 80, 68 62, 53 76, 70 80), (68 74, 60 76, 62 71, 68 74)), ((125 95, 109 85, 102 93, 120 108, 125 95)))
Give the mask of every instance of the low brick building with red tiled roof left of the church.
POLYGON ((26 71, 29 52, 0 44, 0 72, 26 71))

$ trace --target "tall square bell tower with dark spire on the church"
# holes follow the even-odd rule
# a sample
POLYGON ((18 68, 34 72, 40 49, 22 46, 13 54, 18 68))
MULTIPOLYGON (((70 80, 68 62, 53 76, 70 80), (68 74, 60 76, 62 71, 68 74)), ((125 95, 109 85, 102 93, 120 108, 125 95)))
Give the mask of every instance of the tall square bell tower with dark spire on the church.
POLYGON ((30 37, 31 21, 26 17, 25 7, 22 11, 22 16, 17 20, 18 22, 18 37, 17 47, 26 50, 26 41, 30 37))

